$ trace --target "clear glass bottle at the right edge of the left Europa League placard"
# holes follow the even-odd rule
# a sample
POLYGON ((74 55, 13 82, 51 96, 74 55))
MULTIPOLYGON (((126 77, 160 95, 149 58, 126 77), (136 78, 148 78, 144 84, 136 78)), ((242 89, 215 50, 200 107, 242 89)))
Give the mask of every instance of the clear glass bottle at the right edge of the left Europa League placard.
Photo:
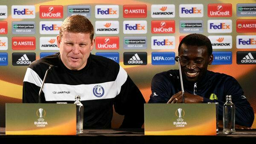
POLYGON ((76 104, 76 133, 83 133, 84 106, 80 101, 80 95, 75 96, 76 104))

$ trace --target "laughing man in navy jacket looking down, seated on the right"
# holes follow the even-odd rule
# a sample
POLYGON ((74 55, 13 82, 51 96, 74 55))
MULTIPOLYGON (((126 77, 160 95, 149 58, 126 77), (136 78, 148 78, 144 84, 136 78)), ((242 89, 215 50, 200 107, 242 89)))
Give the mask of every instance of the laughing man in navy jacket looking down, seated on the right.
MULTIPOLYGON (((208 37, 190 34, 184 37, 178 48, 184 86, 185 103, 219 103, 219 119, 222 120, 226 95, 232 95, 236 106, 236 124, 251 127, 253 108, 235 78, 207 70, 212 63, 212 44, 208 37)), ((154 76, 152 94, 148 103, 182 103, 179 70, 169 70, 154 76)))

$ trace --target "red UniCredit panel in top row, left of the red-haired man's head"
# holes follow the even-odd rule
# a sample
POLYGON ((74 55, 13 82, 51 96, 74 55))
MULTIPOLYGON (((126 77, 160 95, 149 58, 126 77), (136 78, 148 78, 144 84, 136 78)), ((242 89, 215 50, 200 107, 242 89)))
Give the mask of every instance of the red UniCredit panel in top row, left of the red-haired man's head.
POLYGON ((40 6, 40 18, 62 18, 63 6, 40 6))

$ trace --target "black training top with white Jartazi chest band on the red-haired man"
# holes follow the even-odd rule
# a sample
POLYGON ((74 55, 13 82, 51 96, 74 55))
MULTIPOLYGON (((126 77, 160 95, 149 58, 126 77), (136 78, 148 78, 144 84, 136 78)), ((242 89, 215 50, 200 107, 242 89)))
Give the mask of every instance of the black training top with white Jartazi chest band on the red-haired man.
POLYGON ((23 103, 38 103, 38 93, 50 65, 57 67, 47 75, 42 103, 74 103, 75 95, 80 95, 84 128, 111 128, 113 105, 117 113, 125 115, 121 128, 143 125, 145 100, 140 90, 118 63, 92 54, 81 70, 67 69, 59 53, 32 62, 23 80, 23 103))

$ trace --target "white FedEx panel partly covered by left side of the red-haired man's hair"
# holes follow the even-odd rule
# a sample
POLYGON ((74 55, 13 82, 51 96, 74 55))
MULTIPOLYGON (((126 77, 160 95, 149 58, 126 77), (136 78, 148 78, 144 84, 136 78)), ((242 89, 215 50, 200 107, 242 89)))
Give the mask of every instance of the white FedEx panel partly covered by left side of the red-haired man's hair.
POLYGON ((40 21, 40 34, 59 34, 62 21, 40 21))

